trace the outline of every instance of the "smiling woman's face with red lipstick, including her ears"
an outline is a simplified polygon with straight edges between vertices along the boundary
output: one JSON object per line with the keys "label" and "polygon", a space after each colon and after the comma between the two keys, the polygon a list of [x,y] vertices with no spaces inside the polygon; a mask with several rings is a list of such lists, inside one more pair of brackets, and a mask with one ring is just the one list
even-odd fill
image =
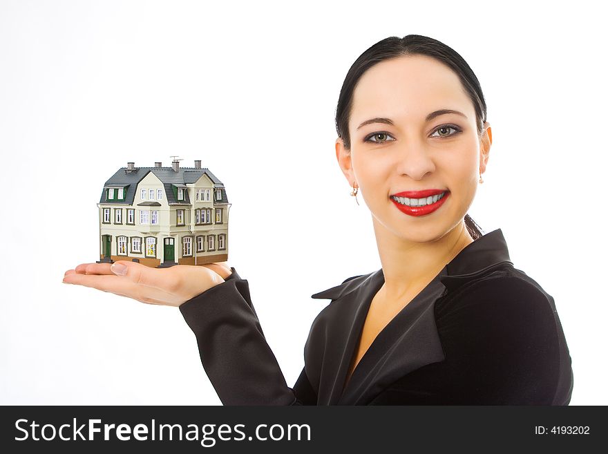
{"label": "smiling woman's face with red lipstick, including her ears", "polygon": [[479,140],[473,103],[448,66],[424,55],[372,66],[354,90],[349,131],[350,152],[338,139],[336,156],[374,222],[417,242],[462,223],[491,132]]}

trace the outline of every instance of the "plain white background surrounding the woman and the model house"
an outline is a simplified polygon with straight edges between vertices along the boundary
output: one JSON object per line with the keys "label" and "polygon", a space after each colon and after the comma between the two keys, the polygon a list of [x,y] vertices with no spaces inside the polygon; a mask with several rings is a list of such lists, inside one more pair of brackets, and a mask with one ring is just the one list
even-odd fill
{"label": "plain white background surrounding the woman and the model house", "polygon": [[493,146],[469,212],[555,298],[571,404],[608,404],[607,34],[591,4],[0,1],[0,404],[220,404],[177,309],[61,283],[98,258],[104,182],[170,155],[225,183],[229,264],[294,384],[327,303],[310,295],[380,267],[334,156],[339,90],[363,50],[410,33],[479,77]]}

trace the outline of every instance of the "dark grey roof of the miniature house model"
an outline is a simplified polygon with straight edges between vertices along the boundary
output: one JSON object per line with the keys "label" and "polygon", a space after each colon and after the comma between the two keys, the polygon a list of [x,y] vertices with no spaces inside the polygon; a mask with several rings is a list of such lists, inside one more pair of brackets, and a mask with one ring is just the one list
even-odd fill
{"label": "dark grey roof of the miniature house model", "polygon": [[[164,193],[167,197],[169,205],[191,205],[188,191],[185,191],[186,200],[178,202],[173,196],[172,186],[185,188],[186,185],[190,185],[197,182],[198,179],[207,175],[213,182],[215,189],[222,190],[221,203],[228,203],[228,197],[226,195],[226,189],[224,183],[222,183],[218,177],[213,175],[209,169],[202,167],[202,169],[196,169],[193,167],[180,167],[176,172],[173,167],[135,167],[135,169],[129,171],[126,167],[121,167],[111,178],[105,182],[104,189],[102,190],[102,196],[99,198],[99,203],[109,203],[116,205],[133,205],[135,200],[135,191],[137,185],[141,180],[144,179],[148,173],[154,173],[155,176],[163,183]],[[125,198],[122,201],[118,200],[107,200],[105,189],[108,187],[123,187],[126,188]]]}

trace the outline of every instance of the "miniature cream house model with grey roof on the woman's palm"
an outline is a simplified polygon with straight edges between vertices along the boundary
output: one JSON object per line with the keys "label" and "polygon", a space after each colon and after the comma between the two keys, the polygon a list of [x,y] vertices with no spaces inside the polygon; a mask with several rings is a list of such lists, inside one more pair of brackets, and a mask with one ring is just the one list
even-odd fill
{"label": "miniature cream house model with grey roof on the woman's palm", "polygon": [[99,262],[150,267],[205,265],[228,258],[224,185],[200,167],[135,167],[129,162],[104,185],[99,200]]}

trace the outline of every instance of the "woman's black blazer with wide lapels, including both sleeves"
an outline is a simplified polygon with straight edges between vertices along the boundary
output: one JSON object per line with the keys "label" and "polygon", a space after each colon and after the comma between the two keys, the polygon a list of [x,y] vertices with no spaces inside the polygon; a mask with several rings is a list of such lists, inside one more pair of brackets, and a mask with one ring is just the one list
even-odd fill
{"label": "woman's black blazer with wide lapels, including both sleeves", "polygon": [[225,405],[567,405],[569,349],[553,298],[513,267],[502,231],[467,245],[345,378],[382,269],[312,295],[304,368],[289,388],[236,269],[180,306]]}

